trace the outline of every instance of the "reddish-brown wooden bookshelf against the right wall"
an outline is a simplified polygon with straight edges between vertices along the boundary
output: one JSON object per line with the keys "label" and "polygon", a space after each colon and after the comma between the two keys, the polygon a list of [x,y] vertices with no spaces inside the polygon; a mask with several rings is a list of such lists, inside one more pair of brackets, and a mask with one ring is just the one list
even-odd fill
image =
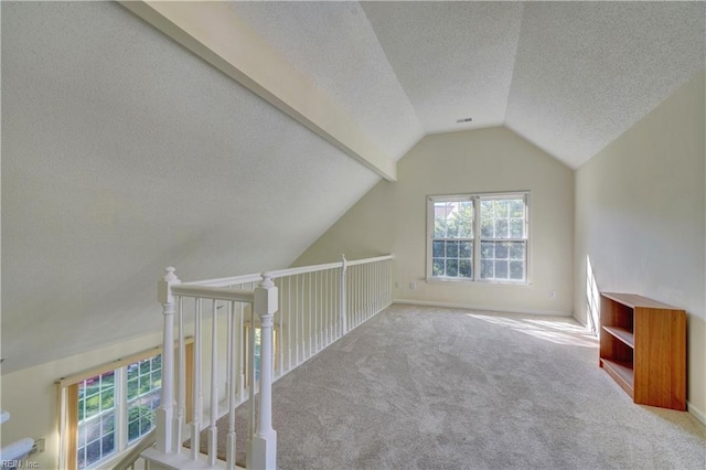
{"label": "reddish-brown wooden bookshelf against the right wall", "polygon": [[633,293],[600,296],[599,365],[634,403],[686,409],[686,313]]}

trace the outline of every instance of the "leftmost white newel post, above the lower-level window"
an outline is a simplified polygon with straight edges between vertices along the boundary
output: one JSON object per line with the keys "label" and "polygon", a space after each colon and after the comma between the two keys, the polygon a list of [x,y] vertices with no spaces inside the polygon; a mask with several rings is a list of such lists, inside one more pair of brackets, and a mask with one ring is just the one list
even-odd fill
{"label": "leftmost white newel post, above the lower-level window", "polygon": [[179,284],[174,268],[168,267],[157,286],[157,298],[162,305],[164,316],[164,337],[162,341],[162,396],[157,409],[157,449],[172,451],[172,430],[174,415],[174,296],[171,287]]}

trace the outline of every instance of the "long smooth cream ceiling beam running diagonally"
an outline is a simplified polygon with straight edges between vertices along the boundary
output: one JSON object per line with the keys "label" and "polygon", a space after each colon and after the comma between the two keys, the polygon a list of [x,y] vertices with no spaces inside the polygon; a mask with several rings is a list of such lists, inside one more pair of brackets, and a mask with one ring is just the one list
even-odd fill
{"label": "long smooth cream ceiling beam running diagonally", "polygon": [[363,165],[396,181],[395,160],[224,2],[120,3]]}

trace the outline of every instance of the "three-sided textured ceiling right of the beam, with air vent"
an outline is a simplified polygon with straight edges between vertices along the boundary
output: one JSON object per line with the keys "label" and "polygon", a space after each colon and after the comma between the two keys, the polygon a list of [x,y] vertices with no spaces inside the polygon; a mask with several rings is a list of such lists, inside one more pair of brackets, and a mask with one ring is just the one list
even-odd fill
{"label": "three-sided textured ceiling right of the beam, with air vent", "polygon": [[578,168],[706,67],[704,2],[232,8],[393,159],[420,133],[505,125]]}

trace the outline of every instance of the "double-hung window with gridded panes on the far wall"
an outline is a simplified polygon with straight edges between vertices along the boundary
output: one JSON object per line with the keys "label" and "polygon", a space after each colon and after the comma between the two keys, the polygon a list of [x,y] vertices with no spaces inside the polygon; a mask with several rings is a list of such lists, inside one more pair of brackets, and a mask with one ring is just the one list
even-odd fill
{"label": "double-hung window with gridded panes on the far wall", "polygon": [[526,192],[431,196],[427,278],[527,282]]}

